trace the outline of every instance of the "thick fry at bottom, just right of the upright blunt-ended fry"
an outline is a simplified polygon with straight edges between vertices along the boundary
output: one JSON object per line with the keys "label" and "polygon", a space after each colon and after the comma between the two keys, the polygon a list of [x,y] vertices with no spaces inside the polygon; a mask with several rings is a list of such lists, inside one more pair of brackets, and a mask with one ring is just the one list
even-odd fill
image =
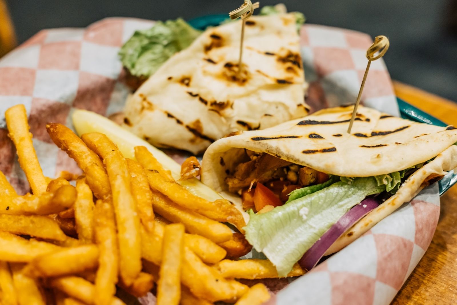
{"label": "thick fry at bottom, just right of the upright blunt-ended fry", "polygon": [[185,247],[184,251],[181,282],[195,296],[210,301],[234,301],[248,290],[248,286],[244,284],[224,279],[216,269],[203,263],[188,247]]}

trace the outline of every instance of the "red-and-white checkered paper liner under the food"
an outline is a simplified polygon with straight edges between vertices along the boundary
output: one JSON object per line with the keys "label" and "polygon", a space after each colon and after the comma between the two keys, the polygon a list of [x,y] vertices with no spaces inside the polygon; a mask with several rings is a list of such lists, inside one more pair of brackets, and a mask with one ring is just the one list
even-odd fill
{"label": "red-and-white checkered paper liner under the food", "polygon": [[[79,173],[76,163],[48,136],[47,122],[70,128],[76,108],[110,116],[122,110],[128,95],[117,52],[135,30],[153,21],[108,18],[86,29],[43,30],[0,60],[0,170],[19,193],[29,191],[15,148],[7,137],[5,110],[24,104],[43,172]],[[327,26],[304,25],[301,53],[312,111],[353,103],[372,43],[363,33]],[[362,102],[399,115],[391,79],[382,59],[372,63]],[[174,155],[182,161],[182,156]],[[293,281],[262,280],[275,293],[268,304],[388,304],[408,278],[438,222],[435,184],[379,222],[365,235],[304,276]],[[290,283],[289,283],[290,282]],[[152,294],[140,299],[154,304]]]}

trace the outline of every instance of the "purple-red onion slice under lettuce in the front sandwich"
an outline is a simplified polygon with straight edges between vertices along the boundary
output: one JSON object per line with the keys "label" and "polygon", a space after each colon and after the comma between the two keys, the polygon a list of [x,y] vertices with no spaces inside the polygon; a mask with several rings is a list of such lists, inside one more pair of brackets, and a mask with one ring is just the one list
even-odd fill
{"label": "purple-red onion slice under lettuce in the front sandwich", "polygon": [[347,211],[333,226],[322,235],[317,242],[303,254],[298,263],[303,269],[311,270],[329,247],[344,234],[344,232],[359,221],[368,212],[375,209],[381,202],[376,198],[366,198]]}

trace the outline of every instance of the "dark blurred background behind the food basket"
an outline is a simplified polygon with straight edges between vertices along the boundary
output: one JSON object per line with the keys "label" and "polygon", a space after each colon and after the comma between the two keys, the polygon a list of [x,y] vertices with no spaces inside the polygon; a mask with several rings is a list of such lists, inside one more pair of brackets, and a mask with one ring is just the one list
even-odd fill
{"label": "dark blurred background behind the food basket", "polygon": [[[457,0],[261,0],[283,2],[308,23],[386,35],[384,57],[393,79],[457,101]],[[242,0],[0,0],[0,30],[8,7],[21,43],[43,28],[84,27],[109,16],[153,20],[228,13]],[[5,31],[3,31],[5,32]],[[1,34],[1,33],[0,33]],[[8,35],[8,33],[3,34]],[[1,53],[1,49],[0,49]]]}

